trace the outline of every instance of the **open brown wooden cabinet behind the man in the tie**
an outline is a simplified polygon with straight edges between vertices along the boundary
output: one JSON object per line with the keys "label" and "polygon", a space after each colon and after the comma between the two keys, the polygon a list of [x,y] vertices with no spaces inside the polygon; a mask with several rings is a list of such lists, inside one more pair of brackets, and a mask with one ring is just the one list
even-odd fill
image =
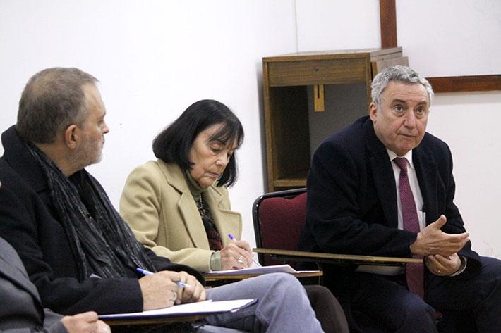
{"label": "open brown wooden cabinet behind the man in the tie", "polygon": [[400,47],[262,58],[268,190],[306,187],[318,144],[368,113],[373,76],[397,64]]}

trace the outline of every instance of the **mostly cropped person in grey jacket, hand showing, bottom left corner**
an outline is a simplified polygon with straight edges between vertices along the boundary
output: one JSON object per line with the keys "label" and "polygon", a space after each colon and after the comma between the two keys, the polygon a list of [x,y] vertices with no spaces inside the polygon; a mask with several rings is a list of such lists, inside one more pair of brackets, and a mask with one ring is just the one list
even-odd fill
{"label": "mostly cropped person in grey jacket, hand showing, bottom left corner", "polygon": [[[11,200],[1,189],[0,202]],[[2,205],[3,206],[3,205]],[[16,214],[11,211],[11,214]],[[1,220],[0,220],[1,223]],[[0,238],[0,332],[107,333],[109,326],[97,320],[97,313],[57,315],[42,307],[37,288],[30,282],[18,253]]]}

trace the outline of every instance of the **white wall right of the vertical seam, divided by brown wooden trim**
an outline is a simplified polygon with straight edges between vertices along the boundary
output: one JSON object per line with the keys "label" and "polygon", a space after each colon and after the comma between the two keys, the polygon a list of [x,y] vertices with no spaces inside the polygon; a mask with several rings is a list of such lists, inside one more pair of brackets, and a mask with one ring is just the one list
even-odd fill
{"label": "white wall right of the vertical seam, divided by brown wooden trim", "polygon": [[[298,49],[380,47],[379,1],[296,0]],[[501,1],[397,0],[397,37],[423,75],[501,73]],[[473,249],[501,258],[501,92],[438,94],[428,132],[454,156],[456,203]]]}

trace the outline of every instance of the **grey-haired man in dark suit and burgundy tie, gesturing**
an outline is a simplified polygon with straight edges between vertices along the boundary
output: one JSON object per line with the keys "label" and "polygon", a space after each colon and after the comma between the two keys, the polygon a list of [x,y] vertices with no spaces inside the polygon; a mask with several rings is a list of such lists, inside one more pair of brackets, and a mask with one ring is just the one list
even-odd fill
{"label": "grey-haired man in dark suit and burgundy tie, gesturing", "polygon": [[352,332],[438,332],[435,310],[440,332],[500,330],[501,261],[471,250],[449,147],[425,132],[432,98],[416,71],[388,68],[369,116],[315,151],[300,249],[424,259],[406,271],[326,268]]}

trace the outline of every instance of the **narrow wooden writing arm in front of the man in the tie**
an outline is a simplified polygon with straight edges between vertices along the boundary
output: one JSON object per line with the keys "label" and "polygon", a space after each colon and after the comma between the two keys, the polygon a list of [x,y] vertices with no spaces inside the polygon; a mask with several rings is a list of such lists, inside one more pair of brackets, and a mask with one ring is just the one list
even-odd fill
{"label": "narrow wooden writing arm in front of the man in the tie", "polygon": [[333,254],[320,252],[303,252],[279,249],[253,249],[255,253],[269,254],[279,260],[308,261],[330,263],[332,265],[385,265],[404,266],[406,263],[422,263],[422,259],[356,256],[353,254]]}

